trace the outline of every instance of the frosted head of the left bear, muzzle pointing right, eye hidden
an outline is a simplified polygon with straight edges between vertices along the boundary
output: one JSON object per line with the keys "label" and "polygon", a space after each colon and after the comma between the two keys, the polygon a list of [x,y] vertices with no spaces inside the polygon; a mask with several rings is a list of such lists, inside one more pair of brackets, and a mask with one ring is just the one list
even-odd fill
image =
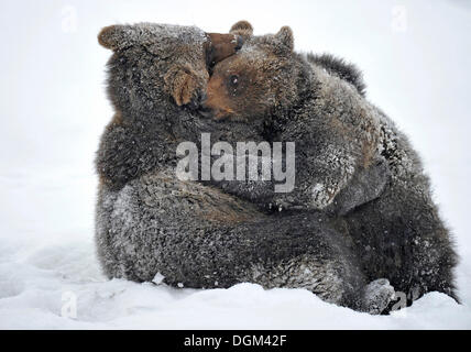
{"label": "frosted head of the left bear, muzzle pointing right, eye hidden", "polygon": [[138,23],[101,30],[98,42],[113,51],[108,94],[117,110],[146,112],[174,99],[188,105],[206,90],[208,68],[238,51],[237,34],[196,26]]}

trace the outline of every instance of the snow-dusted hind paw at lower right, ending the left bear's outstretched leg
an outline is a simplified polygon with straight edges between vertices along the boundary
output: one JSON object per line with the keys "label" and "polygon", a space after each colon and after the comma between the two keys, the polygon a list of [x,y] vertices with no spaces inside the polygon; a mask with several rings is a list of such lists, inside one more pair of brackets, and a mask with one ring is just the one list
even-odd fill
{"label": "snow-dusted hind paw at lower right, ending the left bear's outstretched leg", "polygon": [[362,310],[370,315],[380,315],[394,298],[394,287],[386,278],[379,278],[366,285],[363,292]]}

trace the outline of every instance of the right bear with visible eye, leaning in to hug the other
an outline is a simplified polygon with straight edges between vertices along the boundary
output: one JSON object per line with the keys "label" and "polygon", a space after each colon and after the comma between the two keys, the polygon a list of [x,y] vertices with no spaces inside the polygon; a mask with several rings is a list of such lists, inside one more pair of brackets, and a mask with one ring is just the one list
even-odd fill
{"label": "right bear with visible eye, leaning in to hug the other", "polygon": [[456,298],[457,254],[419,156],[364,98],[353,66],[294,52],[288,28],[245,31],[242,50],[216,65],[204,106],[221,123],[263,124],[270,141],[296,142],[294,191],[275,194],[266,182],[215,184],[262,206],[328,215],[366,280],[387,278],[409,300],[431,290]]}

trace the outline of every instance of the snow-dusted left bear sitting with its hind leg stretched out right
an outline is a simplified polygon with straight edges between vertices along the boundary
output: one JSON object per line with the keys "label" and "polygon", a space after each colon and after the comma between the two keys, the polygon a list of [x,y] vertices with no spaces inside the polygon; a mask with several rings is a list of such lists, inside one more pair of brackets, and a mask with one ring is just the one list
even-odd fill
{"label": "snow-dusted left bear sitting with its hind leg stretched out right", "polygon": [[260,125],[221,124],[188,109],[208,78],[202,31],[118,25],[105,29],[99,41],[114,52],[108,92],[116,116],[96,160],[96,241],[109,277],[142,282],[158,273],[185,287],[251,282],[306,287],[364,311],[387,305],[371,301],[353,243],[321,212],[271,213],[215,186],[175,177],[182,141],[196,142],[201,132],[227,141],[261,136]]}

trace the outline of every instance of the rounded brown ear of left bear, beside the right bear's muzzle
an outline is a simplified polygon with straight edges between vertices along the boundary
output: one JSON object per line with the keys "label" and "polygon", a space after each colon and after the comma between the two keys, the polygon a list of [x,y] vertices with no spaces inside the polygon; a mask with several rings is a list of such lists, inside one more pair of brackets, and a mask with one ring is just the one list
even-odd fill
{"label": "rounded brown ear of left bear, beside the right bear's muzzle", "polygon": [[165,86],[177,106],[190,109],[199,107],[208,78],[202,76],[187,66],[177,66],[167,72]]}

